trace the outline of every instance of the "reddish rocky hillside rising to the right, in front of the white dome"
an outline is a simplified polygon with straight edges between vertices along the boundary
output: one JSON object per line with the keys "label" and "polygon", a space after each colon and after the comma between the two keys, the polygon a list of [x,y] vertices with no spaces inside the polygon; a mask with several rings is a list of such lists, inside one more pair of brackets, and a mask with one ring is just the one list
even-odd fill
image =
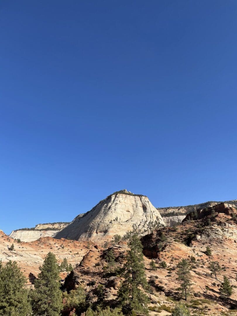
{"label": "reddish rocky hillside rising to the right, in front of the white dome", "polygon": [[[188,214],[183,223],[175,228],[155,229],[141,238],[146,266],[147,281],[151,285],[149,297],[150,309],[161,308],[161,313],[151,315],[170,315],[169,308],[179,300],[177,282],[177,264],[185,258],[191,265],[193,292],[185,302],[192,315],[234,315],[237,309],[237,210],[228,204],[218,204],[197,213]],[[206,247],[211,248],[211,257],[205,254]],[[126,241],[117,245],[110,244],[115,255],[116,267],[122,267],[128,250]],[[66,278],[65,286],[73,289],[83,285],[96,300],[96,287],[103,284],[106,300],[116,299],[120,277],[114,273],[107,276],[103,267],[106,265],[107,249],[91,249]],[[156,262],[157,270],[150,269],[151,259]],[[166,267],[161,267],[161,262]],[[222,271],[217,280],[208,268],[210,261],[218,261]],[[223,276],[227,276],[234,286],[231,298],[220,297],[219,285]],[[163,310],[162,310],[163,308]],[[233,314],[231,312],[233,310]]]}

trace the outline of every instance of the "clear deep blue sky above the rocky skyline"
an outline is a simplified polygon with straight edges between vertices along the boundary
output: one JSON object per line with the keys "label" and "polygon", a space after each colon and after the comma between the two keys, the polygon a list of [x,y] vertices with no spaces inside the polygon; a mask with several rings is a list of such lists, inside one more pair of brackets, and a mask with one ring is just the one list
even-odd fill
{"label": "clear deep blue sky above the rocky skyline", "polygon": [[0,2],[0,229],[113,191],[237,198],[236,0]]}

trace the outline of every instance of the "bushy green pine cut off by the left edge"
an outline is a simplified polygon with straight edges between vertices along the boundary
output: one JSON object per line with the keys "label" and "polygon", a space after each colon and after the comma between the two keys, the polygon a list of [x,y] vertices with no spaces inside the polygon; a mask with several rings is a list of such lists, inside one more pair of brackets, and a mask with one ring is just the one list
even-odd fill
{"label": "bushy green pine cut off by the left edge", "polygon": [[23,288],[26,278],[15,261],[3,267],[0,262],[0,315],[26,316],[31,314],[27,290]]}

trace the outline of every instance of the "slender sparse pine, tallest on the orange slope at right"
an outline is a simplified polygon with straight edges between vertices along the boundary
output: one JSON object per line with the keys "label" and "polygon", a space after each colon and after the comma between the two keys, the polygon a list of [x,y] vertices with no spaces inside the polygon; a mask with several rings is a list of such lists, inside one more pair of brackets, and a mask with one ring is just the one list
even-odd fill
{"label": "slender sparse pine, tallest on the orange slope at right", "polygon": [[182,259],[181,261],[179,261],[179,263],[177,264],[178,269],[178,278],[177,280],[179,280],[181,282],[180,285],[180,290],[182,292],[182,295],[185,296],[185,301],[187,301],[187,296],[191,293],[191,274],[190,274],[190,265],[187,262],[187,260]]}

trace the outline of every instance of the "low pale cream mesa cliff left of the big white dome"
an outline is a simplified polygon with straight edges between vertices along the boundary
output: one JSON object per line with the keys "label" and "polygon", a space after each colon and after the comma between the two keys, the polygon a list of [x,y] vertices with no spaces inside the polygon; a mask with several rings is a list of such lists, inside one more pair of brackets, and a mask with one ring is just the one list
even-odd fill
{"label": "low pale cream mesa cliff left of the big white dome", "polygon": [[34,241],[41,237],[53,237],[68,224],[70,223],[58,222],[37,224],[33,228],[21,228],[13,230],[9,237],[13,239],[20,239],[21,241],[25,242]]}

